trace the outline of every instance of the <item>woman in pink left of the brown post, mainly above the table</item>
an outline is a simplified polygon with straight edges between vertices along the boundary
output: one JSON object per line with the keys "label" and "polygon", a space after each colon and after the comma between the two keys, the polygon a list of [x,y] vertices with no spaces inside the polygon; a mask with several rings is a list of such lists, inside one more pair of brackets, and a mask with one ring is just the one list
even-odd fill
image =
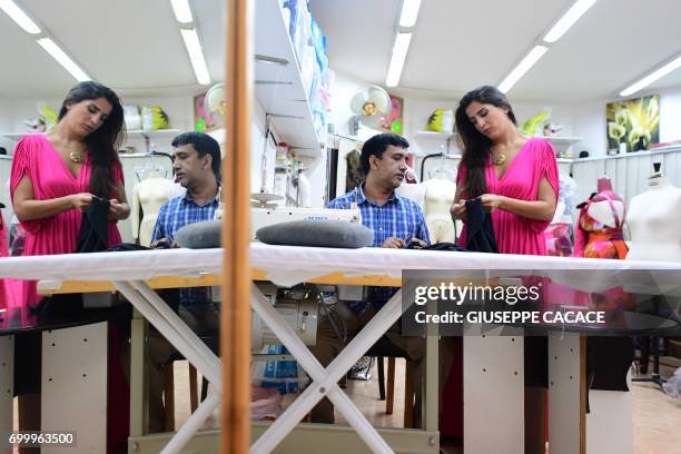
{"label": "woman in pink left of the brown post, mainly above the table", "polygon": [[[92,196],[111,199],[109,245],[121,243],[116,223],[130,214],[117,152],[122,130],[116,93],[88,81],[71,89],[55,128],[19,140],[10,193],[27,230],[23,255],[75,253]],[[34,282],[26,283],[23,297],[26,304],[38,302]]]}

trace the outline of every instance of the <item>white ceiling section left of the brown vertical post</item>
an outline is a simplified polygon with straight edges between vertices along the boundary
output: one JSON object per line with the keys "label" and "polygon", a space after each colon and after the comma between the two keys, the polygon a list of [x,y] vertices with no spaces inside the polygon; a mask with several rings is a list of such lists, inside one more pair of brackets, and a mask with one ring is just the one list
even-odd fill
{"label": "white ceiling section left of the brown vertical post", "polygon": [[[16,0],[85,71],[122,96],[188,95],[196,82],[169,0]],[[224,77],[221,0],[194,0],[211,80]],[[61,98],[76,80],[0,11],[0,97]]]}

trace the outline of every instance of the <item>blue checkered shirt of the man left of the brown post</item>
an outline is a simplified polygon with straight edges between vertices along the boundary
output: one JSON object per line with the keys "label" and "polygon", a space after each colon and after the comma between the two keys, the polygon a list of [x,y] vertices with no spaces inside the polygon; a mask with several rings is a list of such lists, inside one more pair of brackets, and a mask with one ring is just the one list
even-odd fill
{"label": "blue checkered shirt of the man left of the brown post", "polygon": [[[174,243],[177,230],[189,224],[211,220],[218,206],[217,197],[205,205],[198,206],[189,194],[166,201],[156,219],[151,241],[167,238],[170,243]],[[208,290],[208,287],[180,288],[180,304],[206,304],[209,299]]]}

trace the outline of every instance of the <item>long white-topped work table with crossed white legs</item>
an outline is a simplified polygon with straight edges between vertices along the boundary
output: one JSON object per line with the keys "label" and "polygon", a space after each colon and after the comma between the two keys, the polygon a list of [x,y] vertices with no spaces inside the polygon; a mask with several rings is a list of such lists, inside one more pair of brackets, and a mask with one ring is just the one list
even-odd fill
{"label": "long white-topped work table with crossed white legs", "polygon": [[[266,246],[253,244],[251,267],[255,279],[268,279],[278,285],[294,285],[302,282],[319,282],[328,284],[365,284],[365,285],[394,285],[399,286],[403,269],[452,269],[460,270],[461,276],[466,276],[470,269],[536,269],[550,275],[552,272],[571,268],[582,269],[588,276],[594,269],[680,269],[679,264],[645,263],[645,261],[619,261],[595,259],[566,259],[559,257],[534,257],[512,255],[487,255],[476,253],[441,253],[420,250],[393,250],[393,249],[330,249]],[[203,250],[152,250],[135,253],[99,253],[65,256],[21,257],[0,260],[0,277],[20,277],[30,279],[49,279],[62,282],[68,287],[69,282],[88,282],[92,289],[101,289],[101,282],[109,282],[120,290],[175,347],[193,363],[204,376],[214,385],[215,392],[199,406],[199,409],[187,421],[187,423],[172,437],[164,452],[179,452],[182,445],[196,433],[205,422],[206,417],[217,407],[220,402],[221,377],[220,359],[216,357],[208,347],[182,323],[182,320],[156,295],[145,280],[159,276],[194,276],[219,275],[221,272],[221,249]],[[491,276],[494,277],[494,276]],[[100,282],[99,284],[97,282]],[[591,283],[593,284],[593,283]],[[314,356],[307,351],[295,333],[284,323],[283,318],[266,304],[264,297],[254,287],[251,305],[277,333],[282,342],[289,348],[299,364],[313,378],[313,384],[292,404],[290,407],[273,423],[265,436],[259,437],[251,446],[251,452],[261,453],[272,451],[277,444],[297,425],[302,416],[312,408],[325,395],[337,406],[338,411],[347,418],[352,427],[359,434],[362,440],[375,452],[392,452],[392,448],[371,426],[366,418],[353,405],[336,386],[337,379],[347,371],[359,356],[377,340],[402,314],[399,294],[388,302],[371,323],[348,345],[348,347],[324,369]],[[487,337],[491,338],[491,337]],[[573,339],[574,342],[574,339]],[[433,347],[435,342],[428,337],[428,345]],[[556,344],[555,348],[573,348],[578,344]],[[431,348],[432,349],[432,348]],[[499,356],[499,348],[487,348],[488,355]],[[516,342],[512,355],[522,352],[522,342]],[[579,352],[579,351],[578,351]],[[506,356],[511,354],[507,352]],[[426,361],[433,355],[427,354]],[[576,356],[579,358],[579,355]],[[521,356],[522,358],[522,356]],[[494,361],[493,356],[487,359]],[[573,358],[574,359],[574,358]],[[522,363],[522,362],[521,362]],[[579,363],[579,362],[578,362]],[[436,365],[436,363],[435,363]],[[578,364],[579,365],[579,364]],[[428,367],[433,366],[430,361]],[[574,367],[574,363],[570,367]],[[554,371],[555,372],[555,371]],[[426,373],[427,374],[427,373]],[[552,372],[550,371],[550,374]],[[487,427],[507,426],[513,422],[522,427],[517,421],[519,402],[522,396],[522,374],[517,375],[511,387],[490,387],[490,383],[481,394],[481,389],[466,389],[466,396],[473,398],[484,395],[490,402],[499,402],[495,412],[484,415],[486,427],[472,425],[466,430],[468,440],[477,440],[482,443],[492,437],[486,436]],[[137,379],[132,377],[132,379]],[[426,376],[428,387],[432,387],[433,377]],[[506,381],[504,381],[506,382]],[[574,382],[571,385],[574,387]],[[435,381],[435,388],[437,382]],[[467,383],[467,382],[466,382]],[[482,383],[482,382],[481,382]],[[574,392],[573,388],[571,388]],[[507,393],[511,392],[511,393]],[[436,394],[436,393],[435,393]],[[511,406],[504,397],[512,395],[514,401]],[[478,398],[478,397],[475,397]],[[428,397],[426,396],[426,401]],[[431,397],[431,404],[437,405]],[[522,408],[522,406],[521,406]],[[578,408],[551,406],[550,421],[552,434],[564,434],[566,446],[552,445],[552,453],[572,452],[575,440],[579,442],[579,405]],[[468,415],[466,415],[468,416]],[[473,415],[475,416],[475,415]],[[480,415],[478,415],[480,416]],[[554,422],[563,422],[563,427],[553,427]],[[425,426],[436,433],[437,422],[428,420],[426,415]],[[468,425],[467,425],[468,426]],[[576,428],[576,433],[574,432]],[[515,434],[515,435],[514,435]],[[517,437],[520,434],[520,438]],[[522,430],[509,431],[513,440],[503,440],[505,452],[522,452]],[[570,440],[568,440],[570,438]],[[485,452],[478,447],[478,452]],[[434,446],[436,451],[436,446]],[[466,452],[470,452],[467,450]]]}

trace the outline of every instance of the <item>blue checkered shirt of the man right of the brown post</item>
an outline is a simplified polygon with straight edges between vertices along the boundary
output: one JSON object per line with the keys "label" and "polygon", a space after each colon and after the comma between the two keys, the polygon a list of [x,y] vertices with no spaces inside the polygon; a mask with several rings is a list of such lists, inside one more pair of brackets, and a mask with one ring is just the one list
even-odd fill
{"label": "blue checkered shirt of the man right of the brown post", "polygon": [[[381,247],[389,237],[401,238],[405,243],[418,238],[431,244],[423,210],[414,200],[393,193],[387,203],[379,207],[366,198],[363,182],[346,195],[333,199],[327,208],[349,209],[355,203],[362,214],[362,225],[374,231],[374,247]],[[393,287],[368,287],[367,299],[378,309],[395,292]],[[365,306],[364,302],[348,303],[355,313],[362,312]]]}

